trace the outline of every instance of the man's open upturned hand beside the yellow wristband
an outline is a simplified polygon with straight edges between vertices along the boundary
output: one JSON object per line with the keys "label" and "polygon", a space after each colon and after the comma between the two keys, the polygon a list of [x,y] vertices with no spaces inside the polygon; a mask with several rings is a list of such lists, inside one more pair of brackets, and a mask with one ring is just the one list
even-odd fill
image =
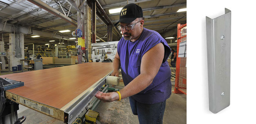
{"label": "man's open upturned hand beside the yellow wristband", "polygon": [[103,93],[103,92],[98,91],[96,93],[95,97],[103,102],[112,102],[112,101],[116,101],[119,99],[119,95],[117,92]]}

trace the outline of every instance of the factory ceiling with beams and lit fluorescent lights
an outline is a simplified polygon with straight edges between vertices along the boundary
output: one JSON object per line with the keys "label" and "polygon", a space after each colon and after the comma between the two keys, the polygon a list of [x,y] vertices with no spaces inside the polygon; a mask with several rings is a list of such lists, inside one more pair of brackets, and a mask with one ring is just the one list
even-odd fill
{"label": "factory ceiling with beams and lit fluorescent lights", "polygon": [[[77,10],[73,6],[70,9],[71,4],[69,1],[70,0],[42,0],[42,2],[46,3],[62,14],[64,14],[63,11],[66,14],[68,14],[68,11],[70,11],[68,17],[71,20],[77,21]],[[112,23],[119,20],[119,13],[109,14],[109,9],[122,8],[127,4],[127,2],[139,5],[142,7],[143,16],[145,17],[144,27],[159,32],[164,38],[176,38],[177,24],[186,23],[186,11],[177,12],[179,9],[186,8],[186,0],[98,0],[98,2]],[[0,27],[5,23],[9,26],[21,26],[24,28],[30,28],[33,31],[38,30],[42,33],[47,32],[60,36],[60,38],[57,38],[56,36],[54,38],[52,36],[31,38],[33,35],[24,35],[25,43],[35,43],[40,45],[45,43],[57,44],[64,41],[66,45],[75,44],[75,40],[63,40],[61,36],[72,38],[71,32],[76,29],[76,26],[67,23],[67,21],[34,5],[29,1],[24,1],[17,4],[17,0],[0,0]],[[61,33],[59,32],[61,30],[70,30],[71,32]],[[1,33],[3,34],[4,41],[6,43],[9,42],[8,32],[4,32],[3,29],[0,28],[0,39],[2,41]],[[97,17],[96,35],[107,41],[106,34],[107,25]],[[49,42],[51,40],[55,41]],[[170,39],[166,40],[168,43],[170,43]],[[113,41],[119,41],[119,38],[114,35],[114,33]]]}

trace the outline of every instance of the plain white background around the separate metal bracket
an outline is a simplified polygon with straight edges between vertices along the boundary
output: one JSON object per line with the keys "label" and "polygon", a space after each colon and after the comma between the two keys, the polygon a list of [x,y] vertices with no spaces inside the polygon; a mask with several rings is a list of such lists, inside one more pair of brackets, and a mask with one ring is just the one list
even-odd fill
{"label": "plain white background around the separate metal bracket", "polygon": [[[231,10],[230,106],[209,111],[205,16]],[[253,0],[187,1],[187,123],[256,123],[256,4]]]}

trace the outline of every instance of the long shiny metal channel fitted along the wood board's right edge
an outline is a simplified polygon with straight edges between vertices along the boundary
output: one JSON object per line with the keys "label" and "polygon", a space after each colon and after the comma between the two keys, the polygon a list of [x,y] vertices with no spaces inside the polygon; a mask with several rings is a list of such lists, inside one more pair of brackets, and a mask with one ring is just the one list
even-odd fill
{"label": "long shiny metal channel fitted along the wood board's right edge", "polygon": [[[109,72],[110,75],[113,71]],[[76,117],[82,112],[86,105],[92,100],[95,94],[101,89],[101,87],[106,83],[106,77],[102,78],[98,83],[95,83],[87,89],[87,92],[74,104],[68,107],[64,114],[67,115],[67,123],[70,124],[75,121]]]}

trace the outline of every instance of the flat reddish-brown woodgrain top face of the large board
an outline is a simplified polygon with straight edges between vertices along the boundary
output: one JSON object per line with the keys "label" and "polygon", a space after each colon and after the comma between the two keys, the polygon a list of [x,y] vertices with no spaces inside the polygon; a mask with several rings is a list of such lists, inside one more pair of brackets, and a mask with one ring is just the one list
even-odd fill
{"label": "flat reddish-brown woodgrain top face of the large board", "polygon": [[113,63],[88,62],[0,77],[24,82],[8,92],[60,109],[112,70]]}

